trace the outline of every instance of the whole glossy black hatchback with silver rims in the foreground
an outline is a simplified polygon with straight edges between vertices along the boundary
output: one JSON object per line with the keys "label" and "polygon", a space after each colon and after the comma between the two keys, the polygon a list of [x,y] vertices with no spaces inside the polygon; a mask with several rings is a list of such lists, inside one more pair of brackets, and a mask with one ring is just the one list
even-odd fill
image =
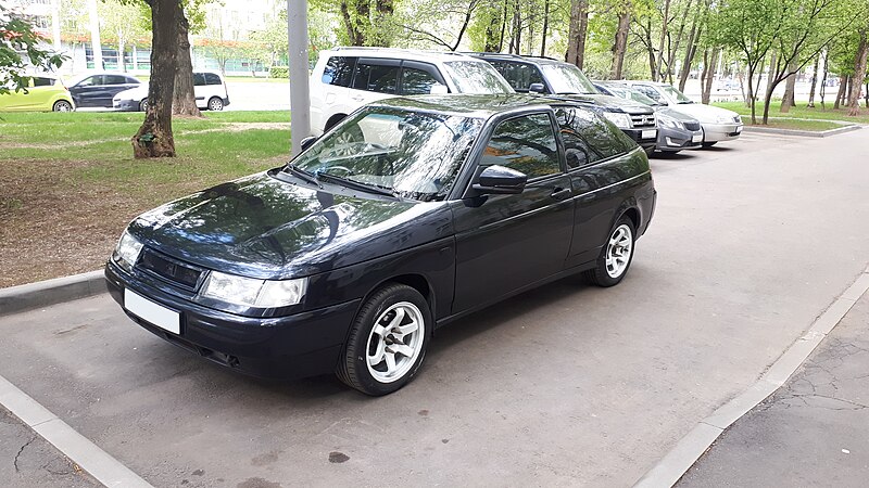
{"label": "whole glossy black hatchback with silver rims in the foreground", "polygon": [[655,208],[645,153],[563,100],[388,99],[304,145],[130,222],[105,267],[127,314],[241,372],[385,395],[440,325],[574,273],[619,283]]}

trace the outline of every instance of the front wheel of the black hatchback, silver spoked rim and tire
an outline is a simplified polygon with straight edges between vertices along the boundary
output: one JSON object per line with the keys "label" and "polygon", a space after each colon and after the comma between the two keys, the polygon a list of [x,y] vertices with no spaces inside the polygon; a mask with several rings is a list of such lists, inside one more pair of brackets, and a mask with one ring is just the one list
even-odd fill
{"label": "front wheel of the black hatchback, silver spoked rim and tire", "polygon": [[432,325],[419,292],[399,283],[379,288],[356,313],[336,374],[375,397],[400,389],[419,371]]}

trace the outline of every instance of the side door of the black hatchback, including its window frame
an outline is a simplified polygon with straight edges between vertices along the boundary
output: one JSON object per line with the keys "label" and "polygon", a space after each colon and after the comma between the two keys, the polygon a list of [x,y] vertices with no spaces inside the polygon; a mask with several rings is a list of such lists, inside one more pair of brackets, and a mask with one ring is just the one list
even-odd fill
{"label": "side door of the black hatchback, including its window frame", "polygon": [[475,174],[501,165],[526,174],[528,183],[519,194],[454,202],[453,313],[495,301],[564,269],[574,202],[550,112],[532,112],[502,120],[491,131]]}

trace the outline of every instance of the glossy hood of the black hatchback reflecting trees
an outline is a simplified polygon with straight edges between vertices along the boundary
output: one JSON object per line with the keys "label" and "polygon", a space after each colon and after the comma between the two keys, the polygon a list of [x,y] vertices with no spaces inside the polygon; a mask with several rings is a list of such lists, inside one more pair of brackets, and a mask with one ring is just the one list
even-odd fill
{"label": "glossy hood of the black hatchback reflecting trees", "polygon": [[129,232],[177,259],[260,279],[311,275],[452,235],[444,203],[329,188],[257,174],[147,211]]}

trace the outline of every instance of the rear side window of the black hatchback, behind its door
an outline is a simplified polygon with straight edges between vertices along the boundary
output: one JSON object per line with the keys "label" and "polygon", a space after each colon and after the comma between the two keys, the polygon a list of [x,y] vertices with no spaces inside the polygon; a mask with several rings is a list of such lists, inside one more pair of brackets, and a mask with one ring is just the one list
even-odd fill
{"label": "rear side window of the black hatchback, behind its door", "polygon": [[575,107],[555,110],[569,168],[580,168],[626,153],[631,141],[615,127],[604,124],[592,112]]}

